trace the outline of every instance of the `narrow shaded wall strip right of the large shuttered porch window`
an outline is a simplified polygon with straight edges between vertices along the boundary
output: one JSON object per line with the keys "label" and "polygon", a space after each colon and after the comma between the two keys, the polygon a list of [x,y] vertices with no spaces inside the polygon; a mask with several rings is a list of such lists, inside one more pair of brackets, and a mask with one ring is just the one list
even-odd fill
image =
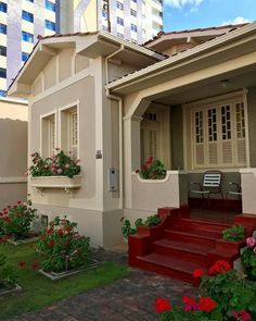
{"label": "narrow shaded wall strip right of the large shuttered porch window", "polygon": [[256,87],[248,88],[248,133],[249,133],[249,159],[251,166],[256,168]]}

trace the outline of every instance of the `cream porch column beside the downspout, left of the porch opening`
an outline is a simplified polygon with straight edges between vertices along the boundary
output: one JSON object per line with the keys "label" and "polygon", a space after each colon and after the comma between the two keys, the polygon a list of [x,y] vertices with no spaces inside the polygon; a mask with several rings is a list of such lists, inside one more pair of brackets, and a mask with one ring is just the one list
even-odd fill
{"label": "cream porch column beside the downspout, left of the porch opening", "polygon": [[124,182],[125,208],[131,208],[131,172],[140,169],[141,116],[124,118]]}

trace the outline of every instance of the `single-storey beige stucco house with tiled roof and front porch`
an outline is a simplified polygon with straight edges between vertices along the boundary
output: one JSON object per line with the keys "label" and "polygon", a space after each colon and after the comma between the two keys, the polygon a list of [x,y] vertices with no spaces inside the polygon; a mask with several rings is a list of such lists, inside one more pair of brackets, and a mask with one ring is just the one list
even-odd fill
{"label": "single-storey beige stucco house with tiled roof and front porch", "polygon": [[[107,247],[120,243],[124,215],[187,205],[190,182],[219,169],[225,190],[242,177],[243,211],[256,214],[255,45],[255,23],[159,34],[143,47],[103,32],[41,39],[9,94],[29,97],[29,152],[73,150],[81,174],[29,180],[34,205]],[[165,180],[135,173],[149,156]]]}

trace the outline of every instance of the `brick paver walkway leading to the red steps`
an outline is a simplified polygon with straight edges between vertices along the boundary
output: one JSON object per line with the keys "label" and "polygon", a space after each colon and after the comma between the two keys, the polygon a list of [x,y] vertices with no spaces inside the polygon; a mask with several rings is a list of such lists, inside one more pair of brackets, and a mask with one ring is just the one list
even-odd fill
{"label": "brick paver walkway leading to the red steps", "polygon": [[[125,257],[103,251],[105,260],[123,261]],[[183,295],[194,295],[190,284],[151,272],[132,270],[131,274],[110,285],[64,299],[42,310],[24,314],[15,321],[145,321],[157,320],[154,300],[167,297],[181,303]]]}

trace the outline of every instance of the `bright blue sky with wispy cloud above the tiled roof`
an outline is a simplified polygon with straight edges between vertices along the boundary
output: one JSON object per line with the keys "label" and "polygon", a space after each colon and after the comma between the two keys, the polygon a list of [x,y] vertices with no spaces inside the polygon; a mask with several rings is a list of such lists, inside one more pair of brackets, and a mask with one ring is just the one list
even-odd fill
{"label": "bright blue sky with wispy cloud above the tiled roof", "polygon": [[164,32],[256,21],[256,0],[164,0]]}

